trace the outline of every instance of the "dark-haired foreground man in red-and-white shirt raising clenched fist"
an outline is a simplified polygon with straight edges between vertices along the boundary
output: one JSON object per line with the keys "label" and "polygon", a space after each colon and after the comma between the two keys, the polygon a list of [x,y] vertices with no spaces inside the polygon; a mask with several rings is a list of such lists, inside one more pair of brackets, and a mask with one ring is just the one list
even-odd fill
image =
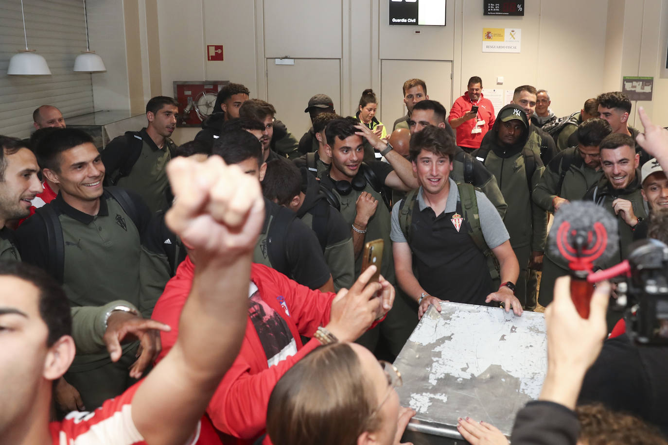
{"label": "dark-haired foreground man in red-and-white shirt raising clenched fist", "polygon": [[[0,392],[12,400],[0,407],[3,444],[184,445],[196,436],[219,443],[217,436],[205,441],[206,422],[198,422],[244,336],[263,201],[257,181],[220,159],[179,159],[169,174],[179,199],[168,224],[198,252],[188,301],[172,324],[180,332],[172,352],[141,384],[100,410],[49,423],[52,382],[75,353],[69,304],[43,272],[0,264]],[[220,189],[231,192],[215,192]],[[205,343],[212,350],[202,354]]]}

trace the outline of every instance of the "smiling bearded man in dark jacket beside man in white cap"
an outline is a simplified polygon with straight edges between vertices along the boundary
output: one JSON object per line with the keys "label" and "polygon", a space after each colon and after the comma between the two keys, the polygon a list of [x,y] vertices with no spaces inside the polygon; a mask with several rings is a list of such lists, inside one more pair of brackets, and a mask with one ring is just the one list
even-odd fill
{"label": "smiling bearded man in dark jacket beside man in white cap", "polygon": [[613,266],[627,258],[635,226],[647,217],[638,171],[640,155],[633,138],[612,133],[601,141],[601,166],[605,177],[585,195],[585,200],[603,205],[617,216],[619,250],[605,265]]}

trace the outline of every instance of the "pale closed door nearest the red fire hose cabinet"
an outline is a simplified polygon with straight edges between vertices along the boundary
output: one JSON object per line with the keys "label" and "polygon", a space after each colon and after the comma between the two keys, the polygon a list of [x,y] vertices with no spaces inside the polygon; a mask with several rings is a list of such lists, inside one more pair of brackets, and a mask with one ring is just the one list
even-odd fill
{"label": "pale closed door nearest the red fire hose cabinet", "polygon": [[304,110],[313,95],[328,95],[341,112],[341,59],[293,60],[294,65],[277,65],[275,59],[267,59],[267,98],[276,108],[276,118],[299,140],[311,127]]}

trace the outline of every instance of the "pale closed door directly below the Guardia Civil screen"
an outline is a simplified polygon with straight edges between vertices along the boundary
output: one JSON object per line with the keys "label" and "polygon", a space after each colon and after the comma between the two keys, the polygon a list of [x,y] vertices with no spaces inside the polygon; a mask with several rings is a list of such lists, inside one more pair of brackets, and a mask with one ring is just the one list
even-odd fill
{"label": "pale closed door directly below the Guardia Civil screen", "polygon": [[[448,60],[381,60],[381,121],[387,132],[396,119],[406,114],[401,87],[408,79],[418,78],[427,84],[427,95],[439,101],[446,111],[454,102],[452,97],[452,61]],[[457,94],[456,96],[458,96]]]}

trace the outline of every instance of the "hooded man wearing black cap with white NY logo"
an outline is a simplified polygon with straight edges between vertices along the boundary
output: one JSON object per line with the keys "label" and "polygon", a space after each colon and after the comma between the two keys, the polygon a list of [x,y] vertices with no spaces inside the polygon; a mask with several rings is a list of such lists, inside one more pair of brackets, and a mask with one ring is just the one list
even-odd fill
{"label": "hooded man wearing black cap with white NY logo", "polygon": [[486,141],[474,155],[496,177],[508,210],[504,224],[520,264],[516,296],[524,306],[528,266],[539,267],[545,244],[547,213],[533,203],[531,193],[545,167],[540,155],[525,147],[530,123],[522,107],[506,105],[499,111]]}

